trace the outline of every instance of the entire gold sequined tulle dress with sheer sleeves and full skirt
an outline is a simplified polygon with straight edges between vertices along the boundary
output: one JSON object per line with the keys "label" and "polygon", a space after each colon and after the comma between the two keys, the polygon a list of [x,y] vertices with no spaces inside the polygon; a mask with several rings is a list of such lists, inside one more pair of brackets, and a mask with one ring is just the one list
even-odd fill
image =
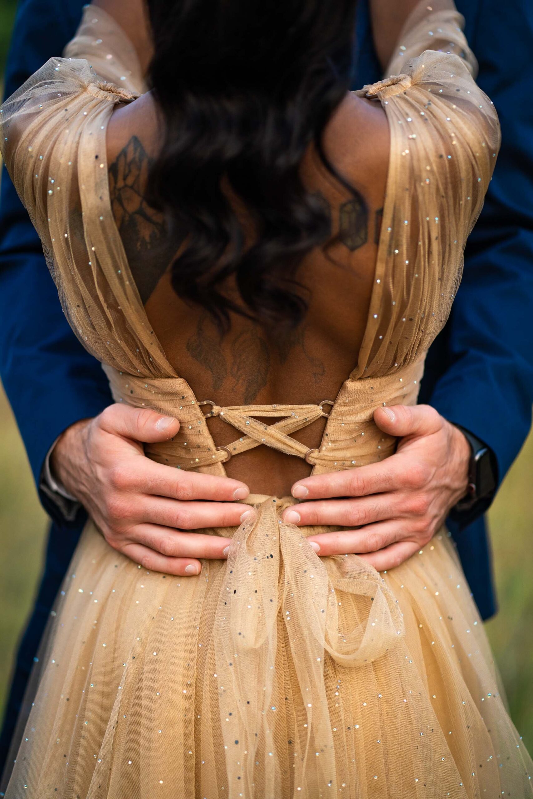
{"label": "entire gold sequined tulle dress with sheer sleeves and full skirt", "polygon": [[[266,445],[320,473],[394,451],[372,411],[416,403],[499,147],[462,22],[418,6],[393,77],[361,89],[387,113],[390,165],[364,341],[332,407],[202,405],[170,366],[110,209],[105,129],[142,78],[104,11],[88,6],[66,58],[6,102],[6,165],[70,324],[117,401],[181,421],[149,457],[224,475],[229,454]],[[207,412],[237,429],[228,449]],[[291,437],[326,414],[316,449]],[[531,760],[447,531],[378,574],[356,555],[317,557],[306,536],[320,528],[280,520],[293,499],[249,501],[253,522],[207,531],[233,535],[228,561],[185,578],[149,573],[87,523],[6,797],[530,797]]]}

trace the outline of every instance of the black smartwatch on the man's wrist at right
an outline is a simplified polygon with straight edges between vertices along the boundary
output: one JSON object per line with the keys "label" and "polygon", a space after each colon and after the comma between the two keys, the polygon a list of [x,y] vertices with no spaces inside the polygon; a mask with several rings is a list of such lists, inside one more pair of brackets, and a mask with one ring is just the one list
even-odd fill
{"label": "black smartwatch on the man's wrist at right", "polygon": [[468,463],[468,491],[463,499],[451,509],[451,518],[469,523],[490,506],[498,485],[498,464],[494,452],[469,430],[459,424],[455,427],[463,433],[470,444],[471,455]]}

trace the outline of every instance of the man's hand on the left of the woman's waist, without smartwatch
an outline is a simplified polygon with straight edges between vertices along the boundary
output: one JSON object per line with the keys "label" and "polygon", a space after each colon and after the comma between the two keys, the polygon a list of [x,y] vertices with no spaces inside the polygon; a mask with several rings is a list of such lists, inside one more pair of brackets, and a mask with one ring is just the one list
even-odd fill
{"label": "man's hand on the left of the woman's waist, without smartwatch", "polygon": [[249,488],[239,480],[181,471],[146,457],[140,442],[168,441],[179,427],[173,417],[116,403],[68,427],[52,451],[50,467],[86,507],[110,547],[149,570],[199,574],[197,559],[225,559],[232,539],[194,531],[239,525],[251,511],[238,503]]}

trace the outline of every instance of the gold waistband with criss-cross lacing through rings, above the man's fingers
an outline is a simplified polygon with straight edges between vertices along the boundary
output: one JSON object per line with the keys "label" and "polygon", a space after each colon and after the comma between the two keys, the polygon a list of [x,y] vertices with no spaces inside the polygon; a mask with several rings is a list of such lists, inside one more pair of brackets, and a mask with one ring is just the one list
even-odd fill
{"label": "gold waistband with criss-cross lacing through rings, above the man's fingers", "polygon": [[[125,375],[104,367],[113,397],[136,407],[156,407],[172,412],[181,420],[181,430],[169,442],[146,444],[145,452],[159,463],[183,469],[216,471],[223,474],[229,457],[251,447],[265,445],[304,458],[313,472],[350,468],[372,463],[392,454],[396,439],[381,433],[372,421],[378,404],[416,403],[424,358],[396,374],[345,381],[335,402],[319,405],[248,405],[219,407],[212,400],[198,401],[181,378],[150,379]],[[176,402],[179,402],[176,408]],[[206,410],[207,409],[207,410]],[[217,447],[209,433],[208,419],[217,415],[242,435],[229,446]],[[272,425],[254,419],[281,417]],[[290,434],[325,416],[327,423],[319,447],[309,449]]]}

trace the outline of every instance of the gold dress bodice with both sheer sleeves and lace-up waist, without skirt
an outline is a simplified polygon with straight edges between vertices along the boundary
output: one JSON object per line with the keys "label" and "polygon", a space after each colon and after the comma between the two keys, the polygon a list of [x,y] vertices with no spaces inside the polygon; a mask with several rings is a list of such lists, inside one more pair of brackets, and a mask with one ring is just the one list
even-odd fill
{"label": "gold dress bodice with both sheer sleeves and lace-up waist, without skirt", "polygon": [[[70,58],[51,59],[2,109],[2,153],[42,238],[67,319],[101,360],[115,400],[180,419],[176,438],[149,445],[150,457],[224,474],[229,455],[260,444],[306,458],[315,471],[392,452],[394,442],[377,431],[372,411],[377,403],[416,403],[424,355],[450,312],[499,145],[495,110],[471,77],[475,58],[462,18],[425,14],[419,24],[406,22],[389,66],[400,74],[360,91],[381,102],[388,117],[383,220],[359,359],[336,399],[326,398],[335,403],[312,451],[290,433],[327,413],[324,406],[213,405],[209,412],[242,434],[217,448],[205,419],[211,406],[177,376],[150,327],[109,200],[105,129],[113,105],[143,89],[133,48],[116,23],[89,6],[66,51]],[[424,43],[446,52],[423,52]],[[259,413],[281,418],[268,426],[253,418]]]}

